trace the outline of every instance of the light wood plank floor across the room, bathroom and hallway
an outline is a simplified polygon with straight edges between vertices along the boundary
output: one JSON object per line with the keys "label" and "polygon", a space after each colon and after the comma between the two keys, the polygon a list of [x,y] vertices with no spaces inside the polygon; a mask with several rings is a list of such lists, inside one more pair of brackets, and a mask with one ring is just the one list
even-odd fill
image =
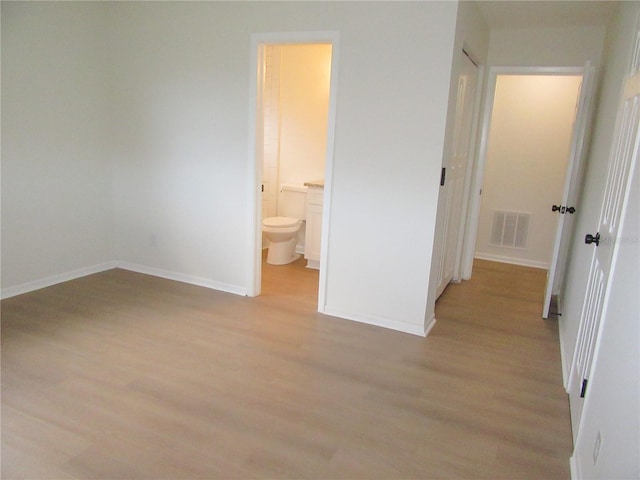
{"label": "light wood plank floor across the room, bathroom and hallway", "polygon": [[569,478],[544,271],[477,262],[426,339],[317,314],[302,264],[263,278],[251,299],[112,270],[3,301],[2,478]]}

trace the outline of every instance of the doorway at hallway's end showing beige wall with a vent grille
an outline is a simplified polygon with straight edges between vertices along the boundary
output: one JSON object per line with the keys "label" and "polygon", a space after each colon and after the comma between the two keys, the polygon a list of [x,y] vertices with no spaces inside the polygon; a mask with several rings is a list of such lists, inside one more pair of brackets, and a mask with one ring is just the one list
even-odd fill
{"label": "doorway at hallway's end showing beige wall with a vent grille", "polygon": [[463,278],[476,257],[550,269],[560,215],[552,206],[580,184],[592,78],[588,63],[491,69]]}

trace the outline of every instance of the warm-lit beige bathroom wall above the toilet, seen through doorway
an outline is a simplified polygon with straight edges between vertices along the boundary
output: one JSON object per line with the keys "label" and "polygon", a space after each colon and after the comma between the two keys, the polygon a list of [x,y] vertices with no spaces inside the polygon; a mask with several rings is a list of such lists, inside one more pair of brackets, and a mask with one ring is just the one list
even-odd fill
{"label": "warm-lit beige bathroom wall above the toilet, seen through doorway", "polygon": [[265,49],[263,218],[283,214],[281,185],[324,178],[330,74],[330,44]]}

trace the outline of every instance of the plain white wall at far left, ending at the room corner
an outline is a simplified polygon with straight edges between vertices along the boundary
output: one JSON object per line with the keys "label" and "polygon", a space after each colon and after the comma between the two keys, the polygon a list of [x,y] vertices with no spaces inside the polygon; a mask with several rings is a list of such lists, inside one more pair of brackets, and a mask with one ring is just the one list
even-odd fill
{"label": "plain white wall at far left, ending at the room corner", "polygon": [[2,2],[2,295],[112,266],[106,5]]}

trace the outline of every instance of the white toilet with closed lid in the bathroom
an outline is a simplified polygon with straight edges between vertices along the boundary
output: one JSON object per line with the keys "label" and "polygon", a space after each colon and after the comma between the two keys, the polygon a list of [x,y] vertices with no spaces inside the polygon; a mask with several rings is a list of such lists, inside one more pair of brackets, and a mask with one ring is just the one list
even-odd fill
{"label": "white toilet with closed lid in the bathroom", "polygon": [[296,245],[298,232],[306,219],[306,187],[283,185],[281,192],[278,213],[282,216],[262,221],[262,232],[269,240],[267,263],[270,265],[286,265],[300,258]]}

